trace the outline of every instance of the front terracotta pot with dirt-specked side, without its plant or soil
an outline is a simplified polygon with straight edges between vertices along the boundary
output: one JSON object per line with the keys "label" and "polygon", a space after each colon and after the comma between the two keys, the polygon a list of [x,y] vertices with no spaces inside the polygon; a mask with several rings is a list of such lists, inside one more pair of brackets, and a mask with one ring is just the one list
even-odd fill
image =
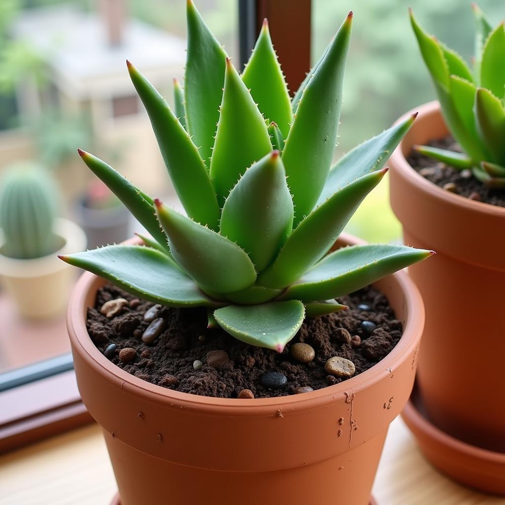
{"label": "front terracotta pot with dirt-specked side, without its plant or soil", "polygon": [[253,400],[181,393],[113,365],[85,323],[104,283],[81,277],[68,329],[79,390],[104,429],[122,505],[306,505],[331,496],[369,503],[388,426],[412,389],[423,329],[422,300],[405,273],[376,283],[405,329],[384,360],[318,391]]}

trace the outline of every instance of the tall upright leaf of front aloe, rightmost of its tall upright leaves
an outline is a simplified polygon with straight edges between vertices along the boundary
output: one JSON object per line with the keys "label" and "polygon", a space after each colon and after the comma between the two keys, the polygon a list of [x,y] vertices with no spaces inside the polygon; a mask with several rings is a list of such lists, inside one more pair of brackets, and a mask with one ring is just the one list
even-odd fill
{"label": "tall upright leaf of front aloe, rightmost of its tall upright leaves", "polygon": [[314,208],[330,170],[351,24],[349,14],[309,80],[284,144],[282,161],[293,195],[294,226]]}

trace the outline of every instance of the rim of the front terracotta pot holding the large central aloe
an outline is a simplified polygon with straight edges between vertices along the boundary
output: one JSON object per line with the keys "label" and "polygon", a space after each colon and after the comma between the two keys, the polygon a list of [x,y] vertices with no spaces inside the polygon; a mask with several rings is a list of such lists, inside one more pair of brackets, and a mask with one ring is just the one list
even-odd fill
{"label": "rim of the front terracotta pot holding the large central aloe", "polygon": [[[137,241],[135,239],[128,242]],[[352,235],[342,233],[338,241],[348,243],[365,243]],[[87,365],[94,369],[96,373],[108,376],[108,380],[123,385],[128,385],[141,392],[132,394],[142,394],[151,401],[170,403],[173,407],[180,408],[198,408],[205,410],[209,415],[216,414],[216,407],[226,409],[228,415],[234,416],[271,416],[272,408],[289,407],[290,412],[300,412],[307,409],[325,408],[328,401],[341,397],[344,394],[352,398],[352,395],[361,393],[371,387],[383,376],[388,376],[391,370],[394,373],[396,365],[405,361],[406,353],[413,352],[416,348],[416,335],[422,331],[424,326],[424,305],[421,295],[406,272],[399,271],[374,284],[393,281],[397,289],[403,293],[403,303],[407,320],[403,323],[403,334],[393,350],[379,363],[367,371],[347,379],[339,384],[328,386],[309,393],[274,396],[270,398],[217,398],[213,396],[199,396],[180,391],[174,391],[162,386],[151,384],[131,375],[118,366],[110,362],[100,352],[86,329],[84,315],[86,314],[86,297],[90,290],[106,283],[105,280],[97,277],[90,272],[85,272],[79,278],[72,295],[70,297],[67,312],[67,328],[72,341],[72,347],[78,348],[79,354],[84,357]],[[74,352],[76,352],[74,350]]]}

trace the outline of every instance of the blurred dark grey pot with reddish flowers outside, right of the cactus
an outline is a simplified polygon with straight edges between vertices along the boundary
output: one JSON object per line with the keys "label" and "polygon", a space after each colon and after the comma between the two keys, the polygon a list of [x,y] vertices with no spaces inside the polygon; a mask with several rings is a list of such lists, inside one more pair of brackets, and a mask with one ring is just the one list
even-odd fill
{"label": "blurred dark grey pot with reddish flowers outside, right of the cactus", "polygon": [[74,214],[86,233],[90,249],[128,238],[128,209],[102,181],[94,180],[89,184],[85,195],[75,203]]}

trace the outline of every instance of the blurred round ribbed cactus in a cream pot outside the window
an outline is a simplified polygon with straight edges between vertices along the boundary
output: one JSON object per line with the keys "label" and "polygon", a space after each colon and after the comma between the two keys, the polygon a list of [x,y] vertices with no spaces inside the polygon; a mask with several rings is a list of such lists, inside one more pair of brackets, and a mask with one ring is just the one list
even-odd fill
{"label": "blurred round ribbed cactus in a cream pot outside the window", "polygon": [[58,199],[51,176],[34,163],[12,165],[0,180],[0,280],[29,319],[65,311],[75,272],[55,253],[86,246],[76,224],[56,217]]}

